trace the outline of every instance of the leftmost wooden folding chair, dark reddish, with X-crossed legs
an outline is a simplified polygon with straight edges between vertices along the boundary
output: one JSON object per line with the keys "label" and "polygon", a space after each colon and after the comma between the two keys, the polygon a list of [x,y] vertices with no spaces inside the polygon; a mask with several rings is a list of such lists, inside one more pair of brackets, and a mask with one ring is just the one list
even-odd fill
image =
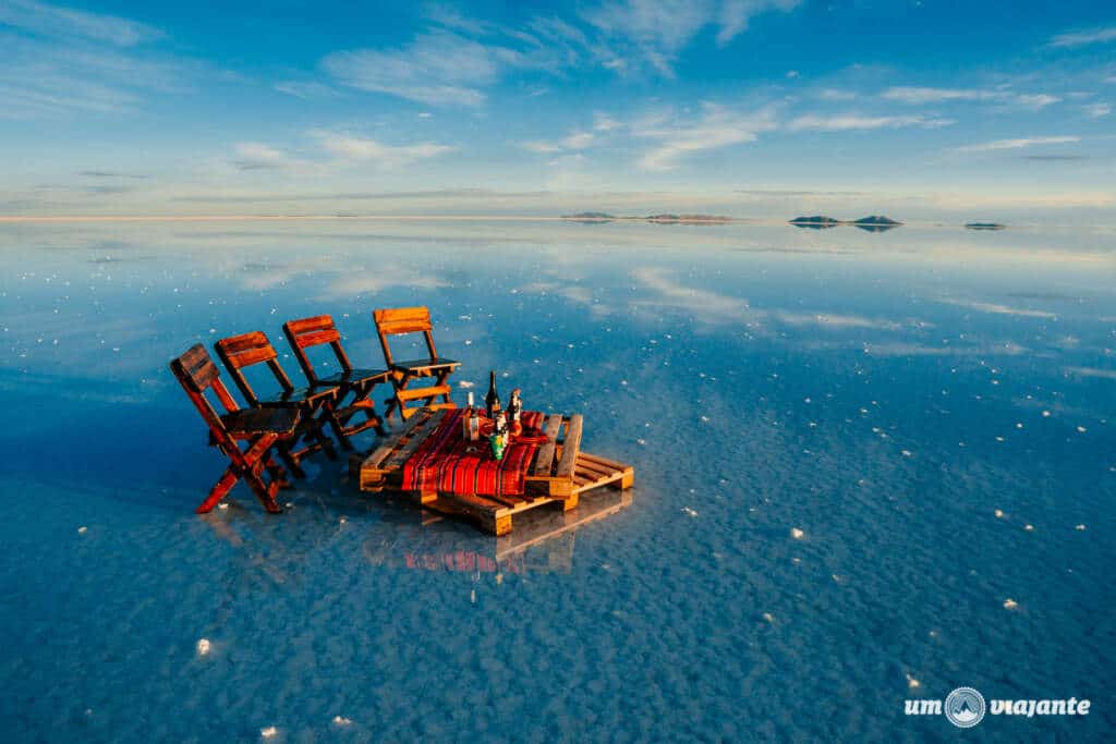
{"label": "leftmost wooden folding chair, dark reddish, with X-crossed legs", "polygon": [[[231,461],[209,496],[198,506],[198,513],[212,511],[240,480],[252,489],[264,509],[271,513],[281,512],[282,509],[276,502],[276,493],[288,485],[287,473],[272,457],[272,450],[295,436],[299,423],[298,410],[238,406],[221,380],[217,365],[201,344],[195,344],[181,357],[172,360],[171,371],[209,425],[210,446],[218,447]],[[205,397],[205,392],[211,388],[224,407],[224,414],[218,414]],[[244,450],[240,448],[241,442],[248,445]],[[264,468],[270,475],[270,482],[263,480]]]}

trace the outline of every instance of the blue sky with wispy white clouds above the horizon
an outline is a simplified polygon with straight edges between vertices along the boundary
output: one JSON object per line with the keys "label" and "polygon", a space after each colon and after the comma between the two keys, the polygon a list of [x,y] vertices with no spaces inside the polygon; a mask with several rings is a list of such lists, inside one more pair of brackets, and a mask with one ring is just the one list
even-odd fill
{"label": "blue sky with wispy white clouds above the horizon", "polygon": [[1110,1],[0,0],[0,214],[1116,213]]}

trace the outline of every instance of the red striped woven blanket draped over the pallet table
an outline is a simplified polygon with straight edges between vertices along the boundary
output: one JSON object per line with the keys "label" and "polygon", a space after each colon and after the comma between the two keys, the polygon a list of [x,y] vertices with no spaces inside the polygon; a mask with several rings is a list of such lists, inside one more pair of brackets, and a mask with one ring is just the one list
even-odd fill
{"label": "red striped woven blanket draped over the pallet table", "polygon": [[462,436],[464,415],[463,408],[448,410],[434,433],[415,450],[403,465],[403,490],[479,496],[523,495],[527,468],[535,451],[547,441],[539,429],[543,414],[523,412],[523,431],[511,437],[503,460],[492,456],[488,439],[470,442]]}

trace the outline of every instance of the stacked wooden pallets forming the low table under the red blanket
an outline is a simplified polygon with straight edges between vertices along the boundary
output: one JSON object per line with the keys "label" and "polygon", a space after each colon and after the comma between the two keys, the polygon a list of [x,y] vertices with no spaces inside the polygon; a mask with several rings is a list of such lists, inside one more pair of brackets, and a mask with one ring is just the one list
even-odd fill
{"label": "stacked wooden pallets forming the low table under the red blanket", "polygon": [[[354,477],[360,490],[402,491],[403,466],[445,415],[442,409],[422,408],[367,457],[354,457]],[[502,535],[511,532],[512,516],[529,509],[559,503],[568,511],[577,506],[581,493],[591,489],[603,485],[632,487],[635,471],[631,465],[581,452],[581,427],[580,414],[549,414],[543,418],[542,431],[549,441],[536,452],[521,496],[448,492],[408,492],[408,495],[426,509],[465,516],[484,531]]]}

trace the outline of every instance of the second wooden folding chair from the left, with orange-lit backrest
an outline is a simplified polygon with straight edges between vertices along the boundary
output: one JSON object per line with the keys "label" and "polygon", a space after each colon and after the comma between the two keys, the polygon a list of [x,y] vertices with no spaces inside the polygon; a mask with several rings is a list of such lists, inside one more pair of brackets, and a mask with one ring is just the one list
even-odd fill
{"label": "second wooden folding chair from the left, with orange-lit backrest", "polygon": [[[231,336],[218,341],[217,354],[229,370],[232,381],[240,388],[241,395],[253,408],[289,408],[299,412],[299,424],[295,436],[286,442],[277,443],[279,456],[287,467],[298,477],[306,473],[299,464],[306,455],[319,450],[333,460],[337,457],[334,443],[323,432],[323,425],[333,415],[334,400],[337,398],[336,387],[300,387],[296,388],[287,373],[279,366],[278,354],[271,341],[262,331],[252,331]],[[244,369],[253,365],[266,364],[279,383],[280,390],[275,395],[261,398],[252,389],[244,377]],[[304,446],[297,448],[299,443]]]}

